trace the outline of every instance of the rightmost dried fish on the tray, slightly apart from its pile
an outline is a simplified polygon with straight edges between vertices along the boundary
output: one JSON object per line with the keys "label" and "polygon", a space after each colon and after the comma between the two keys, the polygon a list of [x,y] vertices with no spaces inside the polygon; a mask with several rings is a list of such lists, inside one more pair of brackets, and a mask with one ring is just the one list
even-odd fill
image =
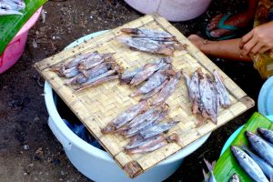
{"label": "rightmost dried fish on the tray, slightly apart from its pile", "polygon": [[229,99],[229,95],[228,95],[226,86],[223,84],[220,76],[217,73],[217,70],[213,71],[213,75],[215,77],[217,92],[219,94],[220,105],[227,108],[231,105],[231,103],[230,103],[230,99]]}

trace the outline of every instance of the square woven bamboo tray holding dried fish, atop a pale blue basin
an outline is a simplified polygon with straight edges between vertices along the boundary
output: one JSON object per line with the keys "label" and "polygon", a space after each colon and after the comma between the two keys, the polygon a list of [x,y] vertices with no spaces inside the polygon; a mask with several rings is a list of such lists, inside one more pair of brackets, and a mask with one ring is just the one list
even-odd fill
{"label": "square woven bamboo tray holding dried fish, atop a pale blue basin", "polygon": [[[101,128],[106,126],[108,122],[138,102],[139,97],[129,97],[135,89],[119,85],[116,80],[101,86],[87,88],[81,92],[75,92],[71,86],[64,85],[64,78],[57,76],[48,67],[56,66],[61,62],[68,62],[76,56],[96,50],[99,53],[116,53],[114,58],[126,69],[144,66],[148,62],[152,62],[153,59],[160,57],[131,50],[126,45],[116,42],[115,37],[121,34],[120,29],[122,27],[160,29],[176,35],[180,43],[188,45],[186,50],[176,51],[173,56],[173,66],[176,70],[183,69],[187,74],[191,74],[197,67],[201,66],[204,72],[211,74],[214,69],[217,69],[219,75],[224,79],[232,102],[228,109],[221,108],[217,117],[217,125],[207,121],[205,125],[197,127],[197,116],[192,115],[191,112],[186,82],[181,79],[175,93],[167,99],[167,104],[170,106],[169,117],[180,121],[177,126],[169,131],[169,133],[176,132],[179,135],[178,143],[168,144],[166,147],[161,147],[147,154],[127,155],[123,147],[128,140],[122,136],[103,135],[101,133]],[[81,45],[36,63],[35,68],[84,123],[90,133],[105,147],[117,164],[132,178],[147,171],[148,168],[154,167],[160,161],[254,106],[254,101],[239,86],[192,45],[173,25],[159,15],[145,15],[126,25],[116,27]]]}

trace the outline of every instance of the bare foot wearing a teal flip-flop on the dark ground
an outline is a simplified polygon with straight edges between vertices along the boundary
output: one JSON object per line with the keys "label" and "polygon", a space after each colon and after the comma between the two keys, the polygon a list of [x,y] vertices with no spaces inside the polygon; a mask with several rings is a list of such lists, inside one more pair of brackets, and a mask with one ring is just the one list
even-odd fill
{"label": "bare foot wearing a teal flip-flop on the dark ground", "polygon": [[[214,18],[211,19],[210,23],[207,25],[207,29],[210,31],[210,35],[212,37],[221,37],[224,35],[230,35],[233,33],[231,30],[227,29],[219,29],[218,23],[224,15],[216,15]],[[231,15],[225,25],[233,25],[235,27],[246,27],[248,23],[251,21],[253,17],[248,15],[247,13],[241,13],[238,15]]]}

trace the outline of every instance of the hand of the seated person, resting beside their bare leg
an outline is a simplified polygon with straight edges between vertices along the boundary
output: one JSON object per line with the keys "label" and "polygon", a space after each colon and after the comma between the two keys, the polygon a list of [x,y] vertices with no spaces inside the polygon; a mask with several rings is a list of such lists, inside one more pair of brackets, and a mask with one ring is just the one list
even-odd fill
{"label": "hand of the seated person, resting beside their bare leg", "polygon": [[273,50],[273,22],[259,25],[244,35],[240,41],[240,49],[242,56]]}

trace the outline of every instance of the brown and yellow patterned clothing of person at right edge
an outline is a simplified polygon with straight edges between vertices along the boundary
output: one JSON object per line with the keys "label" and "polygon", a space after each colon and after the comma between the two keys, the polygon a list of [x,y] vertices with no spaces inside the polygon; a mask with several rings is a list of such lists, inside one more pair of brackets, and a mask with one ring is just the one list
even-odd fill
{"label": "brown and yellow patterned clothing of person at right edge", "polygon": [[[273,0],[259,0],[256,10],[254,27],[265,24],[273,20]],[[272,31],[273,33],[273,31]],[[273,51],[273,50],[272,50]],[[269,53],[251,56],[254,67],[258,70],[260,76],[264,79],[273,76],[273,58]]]}

